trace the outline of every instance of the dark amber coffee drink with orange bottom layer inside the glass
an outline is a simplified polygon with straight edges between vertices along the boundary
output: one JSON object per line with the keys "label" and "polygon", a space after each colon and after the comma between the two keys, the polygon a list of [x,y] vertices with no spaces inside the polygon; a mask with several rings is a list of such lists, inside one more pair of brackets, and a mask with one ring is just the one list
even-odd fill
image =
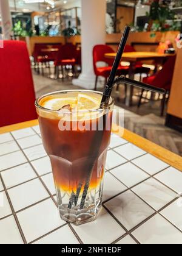
{"label": "dark amber coffee drink with orange bottom layer inside the glass", "polygon": [[[111,115],[107,114],[107,122]],[[103,119],[103,118],[101,118]],[[100,118],[85,121],[91,127],[96,123],[97,130],[59,130],[59,120],[39,116],[44,148],[52,163],[56,188],[68,194],[74,192],[81,184],[81,191],[88,179],[90,168],[89,190],[99,187],[103,180],[106,165],[107,148],[110,143],[110,130],[98,130]],[[70,127],[78,127],[72,121]],[[88,126],[87,126],[88,127]]]}

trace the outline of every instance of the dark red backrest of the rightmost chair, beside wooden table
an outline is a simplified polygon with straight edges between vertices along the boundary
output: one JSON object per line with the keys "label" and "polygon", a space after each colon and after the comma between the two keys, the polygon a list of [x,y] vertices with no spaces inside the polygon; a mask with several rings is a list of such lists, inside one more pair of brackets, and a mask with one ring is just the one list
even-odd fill
{"label": "dark red backrest of the rightmost chair, beside wooden table", "polygon": [[158,71],[158,73],[155,76],[155,79],[152,82],[152,85],[169,89],[170,85],[172,84],[172,78],[174,74],[174,68],[175,68],[175,60],[176,56],[171,56],[166,63],[163,65],[163,69]]}

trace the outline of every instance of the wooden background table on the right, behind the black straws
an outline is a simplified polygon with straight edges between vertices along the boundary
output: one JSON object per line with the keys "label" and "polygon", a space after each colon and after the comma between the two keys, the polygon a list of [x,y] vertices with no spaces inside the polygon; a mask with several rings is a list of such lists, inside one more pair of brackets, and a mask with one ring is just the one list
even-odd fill
{"label": "wooden background table on the right, behind the black straws", "polygon": [[[163,64],[164,61],[173,56],[174,54],[159,54],[158,52],[124,52],[122,56],[123,62],[130,62],[129,78],[134,79],[135,77],[135,66],[137,62],[143,62],[145,60],[153,60],[157,63]],[[105,57],[115,59],[116,52],[105,54]],[[126,105],[130,107],[132,105],[133,87],[127,86],[126,93]]]}

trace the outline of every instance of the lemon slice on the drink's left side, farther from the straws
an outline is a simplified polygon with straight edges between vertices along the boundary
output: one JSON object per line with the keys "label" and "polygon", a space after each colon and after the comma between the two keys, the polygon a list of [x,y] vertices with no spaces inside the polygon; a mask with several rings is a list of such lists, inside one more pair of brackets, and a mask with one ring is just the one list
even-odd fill
{"label": "lemon slice on the drink's left side, farther from the straws", "polygon": [[70,105],[71,108],[75,108],[77,105],[77,98],[52,98],[41,104],[42,107],[50,110],[59,110],[65,105]]}

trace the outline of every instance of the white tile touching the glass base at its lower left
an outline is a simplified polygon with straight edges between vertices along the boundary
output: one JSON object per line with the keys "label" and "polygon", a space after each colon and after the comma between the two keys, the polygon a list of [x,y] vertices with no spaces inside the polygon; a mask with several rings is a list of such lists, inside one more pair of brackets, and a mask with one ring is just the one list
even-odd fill
{"label": "white tile touching the glass base at its lower left", "polygon": [[66,223],[60,218],[52,199],[27,208],[17,216],[28,243]]}

